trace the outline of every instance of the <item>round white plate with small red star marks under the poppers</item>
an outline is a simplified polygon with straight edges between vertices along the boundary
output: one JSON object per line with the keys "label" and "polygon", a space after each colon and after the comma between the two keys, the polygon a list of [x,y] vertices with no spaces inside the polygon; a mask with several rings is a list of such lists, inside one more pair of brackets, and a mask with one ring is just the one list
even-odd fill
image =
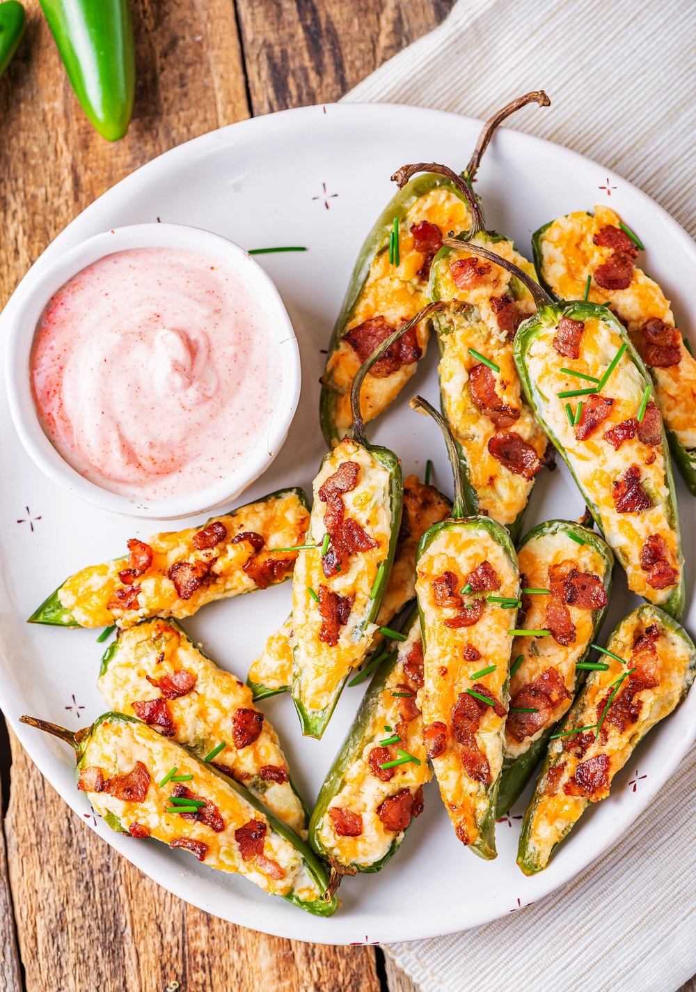
{"label": "round white plate with small red star marks under the poppers", "polygon": [[[302,254],[260,256],[294,324],[302,396],[285,448],[248,496],[286,484],[310,491],[324,453],[317,418],[321,349],[363,238],[394,191],[389,178],[407,162],[434,160],[463,168],[479,128],[477,121],[437,111],[358,104],[304,107],[243,121],[175,148],[114,186],[65,228],[36,267],[92,234],[158,218],[205,227],[248,248],[306,245]],[[641,264],[672,299],[679,325],[686,333],[691,329],[696,247],[638,189],[588,159],[511,130],[495,138],[476,188],[489,226],[514,237],[527,257],[529,235],[543,222],[570,210],[592,209],[595,203],[615,206],[649,246]],[[11,301],[0,326],[12,306]],[[436,402],[436,350],[431,344],[400,400],[368,433],[399,452],[405,474],[415,470],[422,476],[425,459],[432,458],[435,483],[451,493],[437,429],[407,407],[416,392]],[[30,713],[76,729],[105,708],[95,685],[102,652],[96,632],[27,626],[24,621],[69,573],[113,558],[127,538],[147,538],[160,528],[157,522],[129,520],[88,506],[48,481],[20,446],[4,390],[0,450],[2,708],[41,771],[90,827],[175,895],[223,919],[287,937],[363,943],[433,936],[507,916],[571,879],[621,837],[696,737],[692,692],[639,747],[617,777],[611,798],[584,815],[546,871],[533,878],[525,878],[515,863],[524,801],[498,825],[498,859],[484,862],[455,838],[433,782],[425,790],[424,813],[390,864],[376,875],[346,879],[340,910],[329,920],[317,920],[243,879],[198,865],[183,851],[113,833],[93,819],[85,798],[76,792],[70,750],[18,724],[22,713]],[[691,589],[696,503],[680,481],[677,485]],[[579,517],[582,511],[580,495],[561,465],[554,474],[539,477],[527,521],[531,526],[552,517]],[[637,602],[621,569],[615,588],[606,631]],[[251,660],[289,607],[286,583],[206,606],[185,626],[218,664],[246,678]],[[687,625],[693,614],[692,607]],[[288,696],[262,703],[284,742],[293,779],[310,803],[361,690],[356,686],[344,692],[321,741],[300,736]]]}

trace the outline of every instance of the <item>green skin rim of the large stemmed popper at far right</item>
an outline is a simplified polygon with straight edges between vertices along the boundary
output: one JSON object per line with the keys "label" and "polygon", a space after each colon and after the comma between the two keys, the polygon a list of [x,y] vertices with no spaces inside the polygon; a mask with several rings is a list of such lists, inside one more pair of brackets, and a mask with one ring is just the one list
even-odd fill
{"label": "green skin rim of the large stemmed popper at far right", "polygon": [[[622,341],[627,344],[627,356],[638,368],[638,372],[642,376],[646,384],[651,384],[652,380],[642,363],[638,351],[631,343],[624,326],[619,322],[619,320],[614,316],[611,310],[607,310],[606,307],[599,307],[597,304],[590,303],[571,303],[565,304],[563,306],[546,306],[540,308],[536,314],[530,316],[528,319],[524,320],[520,324],[518,333],[515,336],[514,344],[514,355],[515,364],[518,369],[518,374],[520,375],[520,380],[522,382],[522,389],[526,395],[526,400],[531,407],[534,416],[543,428],[543,430],[548,434],[550,440],[553,442],[557,451],[565,461],[566,465],[570,469],[570,473],[577,483],[578,489],[582,493],[582,497],[587,504],[587,508],[592,514],[600,533],[602,531],[602,522],[599,512],[599,508],[594,500],[591,498],[590,494],[583,488],[581,482],[575,475],[573,467],[569,462],[568,457],[562,444],[559,442],[556,435],[553,433],[552,428],[547,422],[544,416],[544,399],[538,392],[536,387],[532,384],[526,363],[526,354],[529,347],[533,341],[533,338],[539,334],[543,329],[549,326],[555,326],[561,316],[569,317],[571,320],[589,320],[595,318],[603,321],[604,323],[610,324],[617,334],[622,338]],[[667,520],[669,526],[674,530],[677,536],[677,546],[679,549],[679,564],[680,564],[680,578],[679,584],[675,586],[672,592],[669,594],[668,598],[660,604],[660,608],[665,610],[667,613],[671,614],[676,619],[679,619],[684,611],[685,602],[685,584],[684,584],[684,559],[681,553],[681,531],[679,526],[679,512],[677,509],[677,499],[676,490],[674,487],[674,475],[672,472],[671,460],[669,458],[669,449],[667,447],[667,438],[664,434],[664,426],[662,426],[662,450],[664,452],[664,476],[667,488],[669,489],[669,500],[667,503],[668,513]]]}

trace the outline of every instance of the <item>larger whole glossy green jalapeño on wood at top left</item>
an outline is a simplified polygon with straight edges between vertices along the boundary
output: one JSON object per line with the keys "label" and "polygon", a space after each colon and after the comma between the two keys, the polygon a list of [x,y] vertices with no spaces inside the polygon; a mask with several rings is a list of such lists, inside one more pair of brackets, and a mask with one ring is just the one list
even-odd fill
{"label": "larger whole glossy green jalape\u00f1o on wood at top left", "polygon": [[135,96],[130,0],[40,0],[70,84],[107,141],[128,130]]}

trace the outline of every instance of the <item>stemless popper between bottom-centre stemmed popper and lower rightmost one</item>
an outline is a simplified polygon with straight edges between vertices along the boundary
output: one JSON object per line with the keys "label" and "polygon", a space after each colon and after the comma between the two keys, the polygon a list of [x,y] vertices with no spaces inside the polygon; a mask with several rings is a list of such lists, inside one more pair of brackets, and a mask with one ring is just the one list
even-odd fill
{"label": "stemless popper between bottom-centre stemmed popper and lower rightmost one", "polygon": [[607,613],[614,556],[594,531],[565,520],[539,524],[518,550],[521,634],[513,642],[498,815],[518,799],[553,727],[592,663]]}

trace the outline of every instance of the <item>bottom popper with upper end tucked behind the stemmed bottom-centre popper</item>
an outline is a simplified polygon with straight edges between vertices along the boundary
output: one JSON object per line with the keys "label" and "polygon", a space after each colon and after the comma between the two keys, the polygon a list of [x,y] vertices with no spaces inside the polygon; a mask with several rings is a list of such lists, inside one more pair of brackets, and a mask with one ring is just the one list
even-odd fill
{"label": "bottom popper with upper end tucked behind the stemmed bottom-centre popper", "polygon": [[339,874],[384,868],[422,811],[432,777],[416,698],[423,683],[416,609],[403,636],[370,683],[309,820],[309,843]]}

